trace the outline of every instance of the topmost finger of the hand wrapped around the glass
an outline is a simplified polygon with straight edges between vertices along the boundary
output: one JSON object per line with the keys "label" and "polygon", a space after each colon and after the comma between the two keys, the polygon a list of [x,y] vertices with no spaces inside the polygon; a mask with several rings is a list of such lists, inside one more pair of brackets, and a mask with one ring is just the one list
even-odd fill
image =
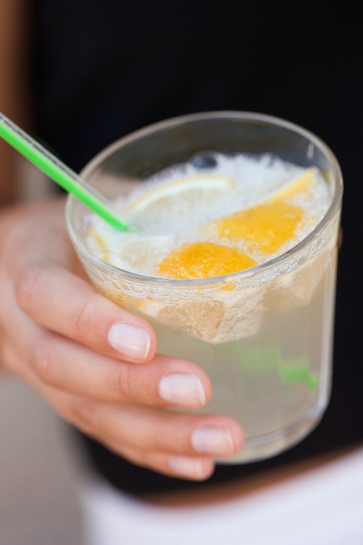
{"label": "topmost finger of the hand wrapped around the glass", "polygon": [[62,267],[42,262],[23,268],[16,296],[36,322],[96,352],[134,363],[155,355],[156,336],[145,320],[108,301]]}

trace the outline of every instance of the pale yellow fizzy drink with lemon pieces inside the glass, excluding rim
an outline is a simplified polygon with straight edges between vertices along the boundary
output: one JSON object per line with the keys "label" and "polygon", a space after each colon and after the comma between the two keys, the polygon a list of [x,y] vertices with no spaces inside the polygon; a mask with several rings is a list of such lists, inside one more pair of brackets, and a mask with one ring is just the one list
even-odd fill
{"label": "pale yellow fizzy drink with lemon pieces inside the glass, excluding rim", "polygon": [[328,399],[336,226],[280,269],[252,272],[304,239],[330,202],[317,169],[219,155],[212,172],[183,165],[119,198],[140,231],[116,234],[96,219],[89,229],[93,252],[136,274],[192,282],[251,270],[250,278],[184,293],[95,280],[152,323],[160,353],[208,373],[213,397],[203,410],[233,416],[246,434],[230,462],[262,459],[298,441]]}

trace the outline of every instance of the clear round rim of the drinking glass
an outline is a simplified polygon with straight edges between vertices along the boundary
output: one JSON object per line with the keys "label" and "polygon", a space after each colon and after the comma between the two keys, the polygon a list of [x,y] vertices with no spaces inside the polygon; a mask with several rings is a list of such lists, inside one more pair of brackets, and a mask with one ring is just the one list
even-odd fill
{"label": "clear round rim of the drinking glass", "polygon": [[271,268],[274,268],[276,265],[281,265],[283,262],[291,260],[295,255],[298,255],[301,250],[303,250],[314,238],[318,237],[318,235],[323,231],[326,223],[333,217],[336,213],[336,211],[340,208],[341,201],[342,201],[342,194],[343,194],[343,178],[342,178],[342,172],[340,169],[340,165],[338,163],[338,160],[335,156],[335,154],[332,152],[332,150],[325,144],[321,138],[316,136],[313,132],[308,131],[307,129],[304,129],[300,125],[297,125],[295,123],[292,123],[290,121],[286,121],[285,119],[282,119],[280,117],[276,116],[270,116],[269,114],[263,114],[263,113],[256,113],[256,112],[239,112],[239,111],[215,111],[215,112],[202,112],[202,113],[192,113],[187,114],[185,116],[178,116],[166,119],[164,121],[160,121],[157,123],[153,123],[151,125],[147,125],[146,127],[142,129],[138,129],[136,131],[131,132],[130,134],[119,138],[119,140],[116,140],[103,150],[96,154],[93,159],[91,159],[86,166],[82,169],[80,175],[87,179],[88,174],[94,171],[96,167],[98,167],[105,159],[107,159],[112,153],[116,152],[119,148],[123,147],[125,144],[128,144],[130,142],[133,142],[137,140],[140,137],[146,136],[156,130],[159,129],[165,129],[171,126],[175,126],[179,123],[185,123],[190,121],[196,121],[196,120],[207,120],[207,119],[217,119],[217,118],[231,118],[231,119],[245,119],[245,120],[251,120],[251,121],[261,121],[265,123],[269,123],[271,125],[277,125],[282,128],[292,130],[301,136],[306,137],[310,142],[312,142],[317,148],[319,148],[320,152],[322,152],[325,157],[328,159],[331,170],[333,174],[333,181],[334,181],[334,196],[332,197],[332,201],[330,203],[330,206],[328,210],[326,210],[326,213],[322,217],[322,219],[319,221],[318,225],[314,227],[314,229],[298,244],[295,244],[291,249],[287,250],[286,252],[283,252],[281,255],[270,259],[269,261],[265,261],[264,263],[261,263],[259,265],[255,265],[255,267],[251,267],[250,269],[245,269],[243,271],[237,271],[237,272],[231,272],[226,275],[221,276],[212,276],[208,278],[158,278],[154,276],[146,276],[137,274],[136,272],[127,271],[125,269],[122,269],[120,267],[117,267],[116,265],[112,265],[110,263],[107,263],[103,261],[101,258],[96,256],[94,253],[92,253],[86,244],[84,244],[83,240],[78,237],[76,230],[74,226],[72,225],[72,213],[74,211],[74,206],[78,202],[77,198],[73,195],[69,194],[68,198],[66,200],[66,207],[65,207],[65,221],[66,221],[66,228],[68,230],[69,237],[72,241],[72,243],[75,246],[76,251],[80,252],[83,257],[87,258],[90,262],[93,263],[95,268],[102,268],[106,269],[109,272],[117,273],[124,277],[127,280],[130,280],[132,282],[142,282],[147,284],[153,284],[158,286],[164,286],[164,287],[213,287],[215,284],[226,284],[226,283],[232,283],[236,282],[237,280],[243,280],[243,278],[250,278],[251,276],[255,276],[263,271],[268,271]]}

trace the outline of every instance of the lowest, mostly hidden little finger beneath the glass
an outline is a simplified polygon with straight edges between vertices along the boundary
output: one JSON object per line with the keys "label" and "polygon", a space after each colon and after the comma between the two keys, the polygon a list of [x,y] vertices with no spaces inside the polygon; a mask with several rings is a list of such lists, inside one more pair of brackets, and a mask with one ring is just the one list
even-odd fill
{"label": "lowest, mostly hidden little finger beneath the glass", "polygon": [[214,462],[207,457],[176,456],[165,452],[145,452],[127,447],[119,449],[112,443],[106,446],[134,464],[170,477],[178,477],[178,479],[204,481],[214,471]]}

